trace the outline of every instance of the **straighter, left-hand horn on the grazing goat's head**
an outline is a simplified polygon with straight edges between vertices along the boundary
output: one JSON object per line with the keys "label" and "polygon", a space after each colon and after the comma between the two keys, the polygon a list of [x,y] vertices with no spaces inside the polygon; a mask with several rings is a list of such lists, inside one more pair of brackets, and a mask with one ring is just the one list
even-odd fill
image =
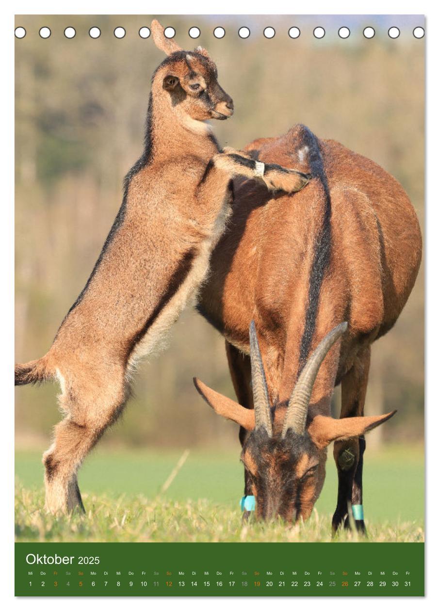
{"label": "straighter, left-hand horn on the grazing goat's head", "polygon": [[255,428],[265,428],[268,436],[271,437],[273,425],[271,424],[270,399],[268,398],[267,380],[265,379],[264,364],[260,356],[254,320],[250,324],[250,360]]}

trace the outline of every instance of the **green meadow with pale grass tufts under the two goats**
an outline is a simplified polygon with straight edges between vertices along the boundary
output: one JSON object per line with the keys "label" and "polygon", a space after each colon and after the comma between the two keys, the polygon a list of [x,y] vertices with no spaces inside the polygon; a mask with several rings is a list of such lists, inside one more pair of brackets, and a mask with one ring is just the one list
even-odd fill
{"label": "green meadow with pale grass tufts under the two goats", "polygon": [[[193,452],[165,494],[161,486],[180,453],[109,452],[87,459],[79,485],[86,516],[53,518],[43,507],[37,453],[17,453],[18,541],[330,541],[336,469],[328,452],[326,481],[306,524],[242,525],[238,453]],[[421,447],[369,453],[364,469],[364,510],[369,540],[421,541],[424,460]],[[342,533],[341,540],[356,535]]]}

